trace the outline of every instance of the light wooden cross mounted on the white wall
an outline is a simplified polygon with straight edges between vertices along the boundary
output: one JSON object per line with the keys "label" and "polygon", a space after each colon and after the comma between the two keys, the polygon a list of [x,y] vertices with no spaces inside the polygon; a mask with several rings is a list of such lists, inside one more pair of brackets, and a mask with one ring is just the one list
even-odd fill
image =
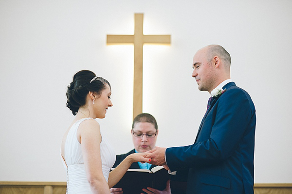
{"label": "light wooden cross mounted on the white wall", "polygon": [[107,35],[107,44],[134,44],[134,106],[133,118],[142,113],[143,44],[170,44],[170,35],[144,35],[143,14],[135,14],[134,35]]}

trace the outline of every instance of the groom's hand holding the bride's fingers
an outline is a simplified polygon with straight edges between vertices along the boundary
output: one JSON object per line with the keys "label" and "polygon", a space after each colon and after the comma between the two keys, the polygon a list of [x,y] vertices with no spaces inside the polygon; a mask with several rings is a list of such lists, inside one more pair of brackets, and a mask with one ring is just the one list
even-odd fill
{"label": "groom's hand holding the bride's fingers", "polygon": [[155,147],[153,150],[147,151],[146,158],[151,158],[150,164],[156,164],[158,166],[163,166],[166,164],[165,153],[166,148]]}

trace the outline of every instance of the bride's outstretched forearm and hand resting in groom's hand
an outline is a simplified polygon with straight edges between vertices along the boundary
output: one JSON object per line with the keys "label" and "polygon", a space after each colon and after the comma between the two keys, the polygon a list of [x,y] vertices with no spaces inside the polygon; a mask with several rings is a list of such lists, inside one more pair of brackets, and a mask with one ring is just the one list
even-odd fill
{"label": "bride's outstretched forearm and hand resting in groom's hand", "polygon": [[110,172],[109,175],[109,187],[112,188],[115,184],[117,184],[123,175],[127,172],[128,168],[131,166],[133,162],[149,162],[151,159],[145,158],[145,155],[148,153],[135,153],[128,155],[113,171]]}

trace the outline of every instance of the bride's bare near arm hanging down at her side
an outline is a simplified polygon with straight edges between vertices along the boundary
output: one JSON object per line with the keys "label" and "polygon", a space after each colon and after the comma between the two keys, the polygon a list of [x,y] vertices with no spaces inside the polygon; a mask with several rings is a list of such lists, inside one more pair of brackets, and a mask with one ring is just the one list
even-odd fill
{"label": "bride's bare near arm hanging down at her side", "polygon": [[99,123],[93,119],[80,123],[77,138],[81,143],[86,176],[92,193],[110,194],[108,183],[102,172]]}

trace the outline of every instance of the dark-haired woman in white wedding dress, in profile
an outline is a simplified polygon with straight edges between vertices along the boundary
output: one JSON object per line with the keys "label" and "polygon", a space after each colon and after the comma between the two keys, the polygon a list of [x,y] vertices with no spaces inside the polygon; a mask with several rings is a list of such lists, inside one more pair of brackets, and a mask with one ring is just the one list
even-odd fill
{"label": "dark-haired woman in white wedding dress, in profile", "polygon": [[110,194],[133,162],[149,162],[147,153],[128,155],[113,171],[115,154],[95,118],[112,106],[110,83],[88,70],[77,72],[67,90],[75,119],[65,132],[61,156],[67,170],[67,194]]}

